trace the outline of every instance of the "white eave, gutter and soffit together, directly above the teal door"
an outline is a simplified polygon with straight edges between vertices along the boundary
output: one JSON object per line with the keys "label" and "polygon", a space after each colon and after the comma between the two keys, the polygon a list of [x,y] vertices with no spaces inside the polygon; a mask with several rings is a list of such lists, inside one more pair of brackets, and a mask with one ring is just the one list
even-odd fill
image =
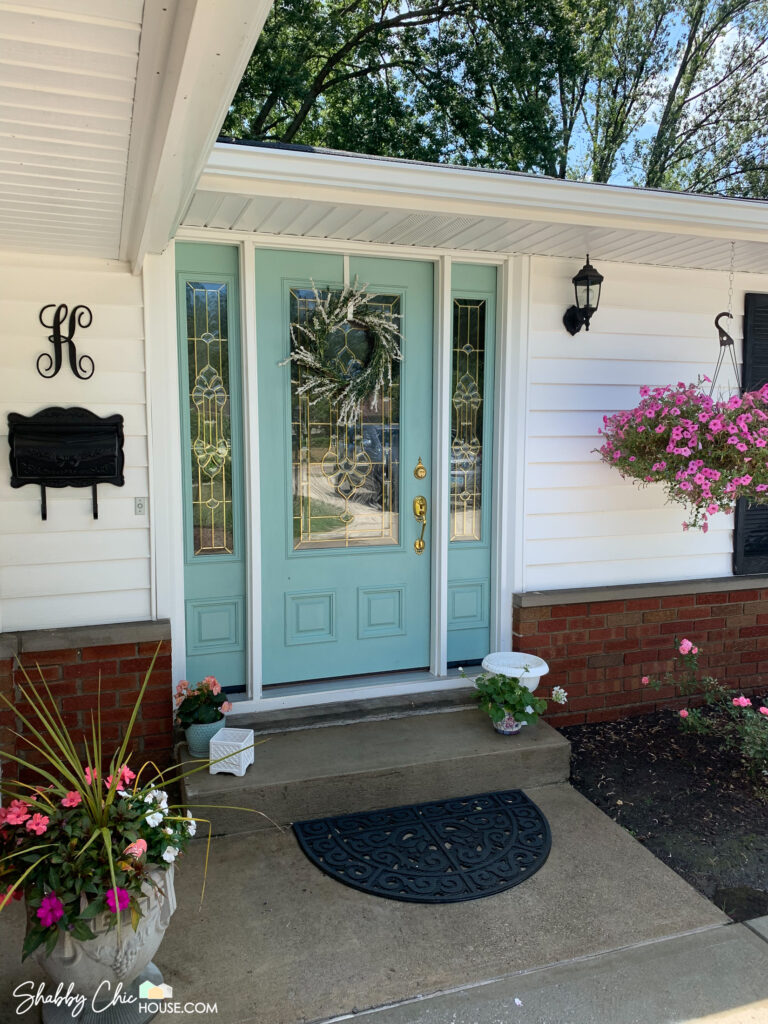
{"label": "white eave, gutter and soffit together, directly above the teal door", "polygon": [[218,143],[190,229],[768,272],[768,203]]}

